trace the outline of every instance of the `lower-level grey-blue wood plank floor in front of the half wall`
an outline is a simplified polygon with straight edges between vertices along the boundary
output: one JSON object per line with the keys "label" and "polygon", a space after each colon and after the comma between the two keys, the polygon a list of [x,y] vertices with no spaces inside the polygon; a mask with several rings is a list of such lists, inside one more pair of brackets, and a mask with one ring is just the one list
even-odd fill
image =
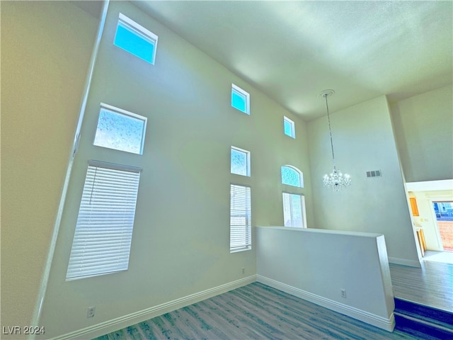
{"label": "lower-level grey-blue wood plank floor in front of the half wall", "polygon": [[420,338],[384,331],[262,283],[251,283],[97,339]]}

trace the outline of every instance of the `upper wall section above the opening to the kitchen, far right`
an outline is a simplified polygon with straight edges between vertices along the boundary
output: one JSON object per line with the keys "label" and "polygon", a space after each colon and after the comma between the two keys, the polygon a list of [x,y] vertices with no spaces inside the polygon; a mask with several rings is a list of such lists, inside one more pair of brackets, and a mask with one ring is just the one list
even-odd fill
{"label": "upper wall section above the opening to the kitchen, far right", "polygon": [[453,179],[453,88],[391,103],[396,142],[408,182]]}

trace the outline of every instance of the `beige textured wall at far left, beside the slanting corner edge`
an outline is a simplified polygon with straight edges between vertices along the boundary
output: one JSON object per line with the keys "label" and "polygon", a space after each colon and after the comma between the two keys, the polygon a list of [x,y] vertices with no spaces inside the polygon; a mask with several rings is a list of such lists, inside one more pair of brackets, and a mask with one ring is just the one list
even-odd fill
{"label": "beige textured wall at far left, beside the slanting corner edge", "polygon": [[0,6],[1,326],[24,327],[38,300],[97,21],[69,2]]}

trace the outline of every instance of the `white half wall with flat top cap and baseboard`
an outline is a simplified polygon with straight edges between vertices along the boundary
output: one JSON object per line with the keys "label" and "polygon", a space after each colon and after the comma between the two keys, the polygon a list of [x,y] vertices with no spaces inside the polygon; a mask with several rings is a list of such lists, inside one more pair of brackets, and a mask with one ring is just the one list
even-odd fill
{"label": "white half wall with flat top cap and baseboard", "polygon": [[[394,299],[383,235],[257,227],[258,281],[386,330]],[[341,290],[346,297],[341,297]]]}

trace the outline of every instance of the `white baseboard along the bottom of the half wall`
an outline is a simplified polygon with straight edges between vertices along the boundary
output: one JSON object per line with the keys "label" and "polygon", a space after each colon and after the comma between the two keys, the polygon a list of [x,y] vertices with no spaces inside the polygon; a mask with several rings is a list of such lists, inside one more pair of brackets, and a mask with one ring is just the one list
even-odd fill
{"label": "white baseboard along the bottom of the half wall", "polygon": [[386,331],[393,331],[395,328],[395,317],[394,313],[391,313],[389,319],[385,317],[380,317],[379,315],[365,312],[365,310],[359,310],[358,308],[344,305],[343,303],[336,302],[334,300],[329,300],[326,297],[322,297],[313,293],[306,292],[305,290],[292,287],[285,283],[281,283],[272,278],[266,278],[265,276],[256,276],[256,280],[265,285],[269,285],[278,290],[282,290],[285,293],[300,297],[309,302],[313,302],[316,305],[326,307],[329,310],[339,312],[341,314],[348,315],[348,317],[353,317],[354,319],[366,322],[367,324],[372,324],[373,326],[385,329]]}

